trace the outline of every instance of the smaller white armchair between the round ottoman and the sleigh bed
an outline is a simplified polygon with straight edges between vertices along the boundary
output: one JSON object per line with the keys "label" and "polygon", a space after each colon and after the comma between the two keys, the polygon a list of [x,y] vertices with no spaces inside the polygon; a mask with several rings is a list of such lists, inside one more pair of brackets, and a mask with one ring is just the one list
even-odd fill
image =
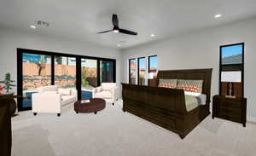
{"label": "smaller white armchair between the round ottoman and the sleigh bed", "polygon": [[118,87],[116,83],[102,83],[102,86],[92,90],[92,98],[102,98],[114,104],[118,100]]}

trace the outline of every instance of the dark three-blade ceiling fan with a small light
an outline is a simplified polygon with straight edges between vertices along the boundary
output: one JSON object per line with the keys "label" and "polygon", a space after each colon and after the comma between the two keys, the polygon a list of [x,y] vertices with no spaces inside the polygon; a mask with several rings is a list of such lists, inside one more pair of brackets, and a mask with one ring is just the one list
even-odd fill
{"label": "dark three-blade ceiling fan with a small light", "polygon": [[131,31],[119,28],[119,19],[118,19],[117,14],[112,15],[112,23],[113,23],[113,29],[112,30],[98,32],[98,33],[106,33],[106,32],[118,33],[118,32],[120,32],[120,33],[125,33],[125,34],[128,34],[128,35],[137,35],[137,32],[131,32]]}

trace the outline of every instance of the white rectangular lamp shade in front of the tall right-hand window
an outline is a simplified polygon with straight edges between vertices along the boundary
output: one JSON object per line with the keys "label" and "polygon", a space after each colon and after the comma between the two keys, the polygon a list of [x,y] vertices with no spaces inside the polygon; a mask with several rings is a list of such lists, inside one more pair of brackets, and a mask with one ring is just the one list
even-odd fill
{"label": "white rectangular lamp shade in front of the tall right-hand window", "polygon": [[241,82],[241,72],[221,72],[221,82]]}

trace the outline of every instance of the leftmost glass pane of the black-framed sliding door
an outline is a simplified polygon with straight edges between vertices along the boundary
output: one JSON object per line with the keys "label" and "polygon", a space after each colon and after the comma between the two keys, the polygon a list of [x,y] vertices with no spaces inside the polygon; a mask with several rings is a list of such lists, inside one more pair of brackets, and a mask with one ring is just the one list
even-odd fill
{"label": "leftmost glass pane of the black-framed sliding door", "polygon": [[21,107],[32,107],[32,94],[38,87],[51,84],[51,56],[22,54],[22,103]]}

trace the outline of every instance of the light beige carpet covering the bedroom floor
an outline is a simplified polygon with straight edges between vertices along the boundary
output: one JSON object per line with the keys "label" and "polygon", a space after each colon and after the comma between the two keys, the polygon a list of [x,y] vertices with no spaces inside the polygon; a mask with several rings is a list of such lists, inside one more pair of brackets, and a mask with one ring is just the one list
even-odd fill
{"label": "light beige carpet covering the bedroom floor", "polygon": [[207,117],[181,140],[172,131],[122,112],[122,101],[97,113],[73,106],[12,119],[13,156],[254,156],[256,124]]}

